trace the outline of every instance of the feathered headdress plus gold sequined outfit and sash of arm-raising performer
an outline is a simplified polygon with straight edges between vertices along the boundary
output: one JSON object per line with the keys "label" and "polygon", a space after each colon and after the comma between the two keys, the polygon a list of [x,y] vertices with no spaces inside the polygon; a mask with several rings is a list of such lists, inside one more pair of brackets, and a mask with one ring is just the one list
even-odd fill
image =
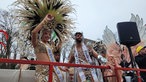
{"label": "feathered headdress plus gold sequined outfit and sash of arm-raising performer", "polygon": [[[18,17],[20,21],[21,30],[25,32],[24,39],[30,38],[31,31],[39,25],[48,13],[51,14],[54,19],[51,22],[44,23],[43,27],[53,31],[53,38],[51,38],[51,40],[54,42],[57,40],[59,44],[59,42],[65,42],[71,37],[73,22],[68,14],[73,11],[73,8],[68,0],[17,0],[14,5],[17,8],[16,17]],[[57,47],[57,45],[50,46],[39,41],[35,53],[47,53],[49,54],[49,60],[56,62],[53,53],[58,49]],[[54,75],[56,75],[53,76],[55,77],[53,82],[63,82],[63,75],[59,67],[54,66],[53,68]],[[48,82],[48,70],[48,66],[39,65],[36,67],[36,76],[39,82]]]}

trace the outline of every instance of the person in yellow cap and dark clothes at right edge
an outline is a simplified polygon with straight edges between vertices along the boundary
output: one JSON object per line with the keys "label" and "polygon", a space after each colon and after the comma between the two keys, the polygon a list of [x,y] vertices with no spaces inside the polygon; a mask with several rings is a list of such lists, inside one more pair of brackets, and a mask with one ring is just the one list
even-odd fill
{"label": "person in yellow cap and dark clothes at right edge", "polygon": [[[146,47],[138,46],[136,48],[136,52],[138,53],[135,56],[135,61],[138,64],[140,69],[146,69]],[[146,72],[140,72],[143,82],[146,82]]]}

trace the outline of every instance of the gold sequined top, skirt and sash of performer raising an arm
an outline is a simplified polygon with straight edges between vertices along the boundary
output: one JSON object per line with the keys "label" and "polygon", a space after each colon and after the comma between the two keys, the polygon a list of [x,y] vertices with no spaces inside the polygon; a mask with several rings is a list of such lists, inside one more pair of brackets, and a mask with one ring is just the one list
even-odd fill
{"label": "gold sequined top, skirt and sash of performer raising an arm", "polygon": [[[39,42],[36,51],[39,50],[39,52],[47,52],[49,55],[49,59],[52,62],[56,62],[54,55],[52,53],[52,49],[49,45],[44,44],[43,42]],[[48,66],[44,65],[38,65],[36,67],[36,77],[38,82],[47,82],[48,81]],[[54,66],[54,73],[53,73],[53,82],[63,82],[63,75],[61,70],[58,68],[58,66]]]}

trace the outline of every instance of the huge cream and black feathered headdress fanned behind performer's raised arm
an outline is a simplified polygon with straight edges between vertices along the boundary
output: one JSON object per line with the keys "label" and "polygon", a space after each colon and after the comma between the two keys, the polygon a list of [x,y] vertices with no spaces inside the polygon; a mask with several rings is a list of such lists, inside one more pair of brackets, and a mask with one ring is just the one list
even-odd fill
{"label": "huge cream and black feathered headdress fanned behind performer's raised arm", "polygon": [[27,36],[30,36],[31,31],[48,13],[54,20],[46,26],[53,29],[53,34],[59,39],[66,40],[73,31],[73,22],[68,16],[73,12],[73,8],[68,0],[17,0],[14,5],[21,25],[28,33]]}

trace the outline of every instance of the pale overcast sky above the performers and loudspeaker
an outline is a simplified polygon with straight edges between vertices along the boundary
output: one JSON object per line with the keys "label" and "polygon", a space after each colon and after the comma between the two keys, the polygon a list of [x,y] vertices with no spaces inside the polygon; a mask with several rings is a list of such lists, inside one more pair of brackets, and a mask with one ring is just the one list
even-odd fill
{"label": "pale overcast sky above the performers and loudspeaker", "polygon": [[[1,0],[0,8],[6,9],[15,0]],[[146,23],[146,0],[71,0],[76,9],[76,31],[86,38],[102,39],[106,26],[117,32],[118,22],[129,21],[131,13],[139,15]]]}

